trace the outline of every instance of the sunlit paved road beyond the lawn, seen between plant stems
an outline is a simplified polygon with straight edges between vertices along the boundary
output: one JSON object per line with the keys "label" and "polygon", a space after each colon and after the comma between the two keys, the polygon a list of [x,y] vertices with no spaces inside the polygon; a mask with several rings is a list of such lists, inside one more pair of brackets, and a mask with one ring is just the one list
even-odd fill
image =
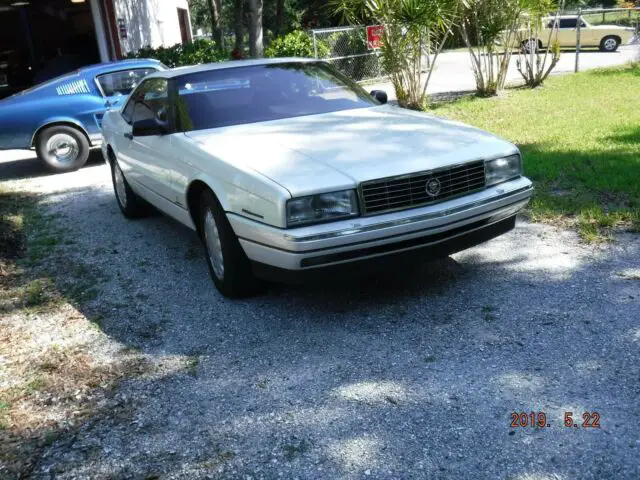
{"label": "sunlit paved road beyond the lawn, seen between plant stems", "polygon": [[[554,73],[563,74],[574,71],[576,54],[565,51],[560,57]],[[603,53],[597,50],[588,50],[580,54],[581,71],[594,68],[612,67],[622,65],[634,59],[640,60],[640,46],[624,46],[615,53]],[[516,68],[516,57],[511,60],[507,83],[521,82],[522,77]],[[367,85],[367,90],[374,88],[387,92],[390,99],[395,99],[393,87],[388,82],[375,85]],[[428,93],[449,93],[475,90],[475,80],[471,69],[471,61],[467,52],[444,53],[438,58],[436,71],[429,83]]]}

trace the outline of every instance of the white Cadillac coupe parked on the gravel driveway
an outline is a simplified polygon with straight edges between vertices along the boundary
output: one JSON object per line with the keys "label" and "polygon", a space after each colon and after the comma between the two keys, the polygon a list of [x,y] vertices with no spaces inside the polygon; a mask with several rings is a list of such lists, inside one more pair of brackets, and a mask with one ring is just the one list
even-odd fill
{"label": "white Cadillac coupe parked on the gravel driveway", "polygon": [[151,204],[195,229],[230,297],[515,226],[533,189],[514,145],[385,103],[314,60],[178,68],[105,115],[102,148],[124,215]]}

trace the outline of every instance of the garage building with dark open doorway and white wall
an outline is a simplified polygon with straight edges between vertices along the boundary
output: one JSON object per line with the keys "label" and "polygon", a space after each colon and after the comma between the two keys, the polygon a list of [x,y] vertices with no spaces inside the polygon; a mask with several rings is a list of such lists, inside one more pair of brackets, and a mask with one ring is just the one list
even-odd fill
{"label": "garage building with dark open doorway and white wall", "polygon": [[190,40],[186,0],[0,0],[0,99],[146,45]]}

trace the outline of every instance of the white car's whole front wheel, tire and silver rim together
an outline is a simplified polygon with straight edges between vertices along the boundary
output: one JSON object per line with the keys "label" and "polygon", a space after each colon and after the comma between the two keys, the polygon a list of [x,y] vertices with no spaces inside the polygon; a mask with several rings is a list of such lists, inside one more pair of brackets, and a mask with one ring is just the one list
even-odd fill
{"label": "white car's whole front wheel, tire and silver rim together", "polygon": [[228,298],[244,298],[258,291],[259,283],[220,203],[210,190],[200,196],[198,232],[211,279]]}

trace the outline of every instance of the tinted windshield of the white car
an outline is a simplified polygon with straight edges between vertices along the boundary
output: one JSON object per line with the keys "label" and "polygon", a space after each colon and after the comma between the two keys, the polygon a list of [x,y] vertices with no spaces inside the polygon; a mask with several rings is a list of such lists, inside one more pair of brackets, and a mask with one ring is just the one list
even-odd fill
{"label": "tinted windshield of the white car", "polygon": [[178,78],[182,131],[367,108],[379,103],[322,62],[209,70]]}

